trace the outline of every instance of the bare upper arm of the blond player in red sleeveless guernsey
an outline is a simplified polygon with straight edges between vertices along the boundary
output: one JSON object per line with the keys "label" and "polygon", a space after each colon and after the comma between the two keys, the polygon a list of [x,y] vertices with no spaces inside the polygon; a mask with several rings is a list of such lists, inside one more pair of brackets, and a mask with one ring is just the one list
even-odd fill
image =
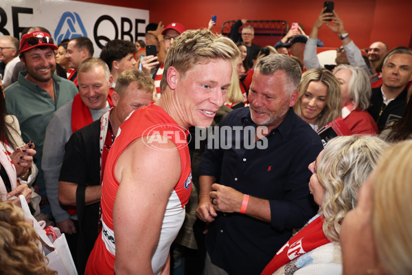
{"label": "bare upper arm of the blond player in red sleeveless guernsey", "polygon": [[[115,166],[119,189],[113,208],[116,274],[153,274],[165,208],[181,174],[181,160],[172,142],[156,150],[135,140]],[[165,256],[166,261],[167,254]]]}

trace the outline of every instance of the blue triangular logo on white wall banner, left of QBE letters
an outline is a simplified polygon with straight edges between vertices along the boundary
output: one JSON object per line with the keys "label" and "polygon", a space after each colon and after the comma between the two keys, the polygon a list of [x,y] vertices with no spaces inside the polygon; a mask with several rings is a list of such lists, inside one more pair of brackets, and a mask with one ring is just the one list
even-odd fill
{"label": "blue triangular logo on white wall banner, left of QBE letters", "polygon": [[65,12],[58,22],[54,38],[60,44],[63,39],[73,39],[75,37],[87,36],[82,19],[77,12]]}

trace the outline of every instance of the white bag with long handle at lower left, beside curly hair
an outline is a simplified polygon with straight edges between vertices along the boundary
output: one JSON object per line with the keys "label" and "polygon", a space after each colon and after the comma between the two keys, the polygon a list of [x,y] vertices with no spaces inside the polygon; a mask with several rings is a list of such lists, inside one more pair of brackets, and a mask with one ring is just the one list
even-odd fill
{"label": "white bag with long handle at lower left, beside curly hair", "polygon": [[36,230],[38,236],[42,241],[49,246],[49,248],[54,248],[53,252],[49,252],[47,248],[45,248],[47,258],[49,259],[49,269],[56,270],[58,275],[77,275],[76,265],[74,265],[73,258],[71,257],[71,253],[69,250],[69,245],[67,244],[66,236],[64,233],[59,236],[54,243],[50,241],[49,237],[47,236],[45,230],[38,224],[38,221],[33,217],[32,213],[30,213],[29,206],[27,205],[27,201],[23,195],[19,196],[21,201],[21,208],[23,208],[24,216],[27,219],[33,220],[33,227]]}

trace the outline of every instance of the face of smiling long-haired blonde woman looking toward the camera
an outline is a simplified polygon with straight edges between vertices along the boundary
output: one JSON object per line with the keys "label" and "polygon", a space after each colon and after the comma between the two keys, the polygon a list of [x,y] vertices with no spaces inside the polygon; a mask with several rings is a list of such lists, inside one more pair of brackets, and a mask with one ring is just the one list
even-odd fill
{"label": "face of smiling long-haired blonde woman looking toward the camera", "polygon": [[309,124],[317,124],[319,114],[326,107],[328,86],[320,81],[312,81],[301,97],[301,118]]}

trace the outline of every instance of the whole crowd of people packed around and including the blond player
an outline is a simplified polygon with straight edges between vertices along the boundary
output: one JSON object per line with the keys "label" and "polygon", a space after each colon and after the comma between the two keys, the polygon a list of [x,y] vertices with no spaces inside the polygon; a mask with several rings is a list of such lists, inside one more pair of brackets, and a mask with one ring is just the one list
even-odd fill
{"label": "whole crowd of people packed around and including the blond player", "polygon": [[[4,270],[53,274],[24,195],[79,274],[411,274],[412,50],[361,50],[325,10],[275,45],[247,19],[149,23],[99,57],[47,26],[2,36]],[[342,45],[323,66],[324,25]]]}

